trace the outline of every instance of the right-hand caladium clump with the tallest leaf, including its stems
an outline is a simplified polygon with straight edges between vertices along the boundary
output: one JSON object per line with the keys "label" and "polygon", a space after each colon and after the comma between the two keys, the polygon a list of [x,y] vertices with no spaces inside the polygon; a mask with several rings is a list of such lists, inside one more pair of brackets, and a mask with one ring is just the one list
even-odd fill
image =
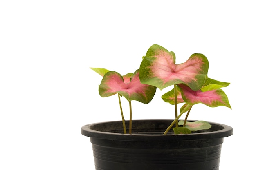
{"label": "right-hand caladium clump with the tallest leaf, including its stems", "polygon": [[[173,90],[162,95],[165,102],[175,105],[175,120],[166,129],[164,134],[173,128],[175,134],[187,134],[191,131],[211,128],[205,121],[188,122],[187,116],[193,105],[202,103],[210,107],[227,106],[231,108],[227,95],[220,88],[229,83],[220,82],[207,77],[209,62],[203,54],[192,54],[182,64],[175,64],[175,54],[154,44],[151,46],[139,68],[141,83],[156,86],[160,90],[173,85]],[[177,113],[177,104],[185,103],[180,114]],[[187,113],[183,122],[178,119]],[[179,125],[182,125],[179,127]]]}

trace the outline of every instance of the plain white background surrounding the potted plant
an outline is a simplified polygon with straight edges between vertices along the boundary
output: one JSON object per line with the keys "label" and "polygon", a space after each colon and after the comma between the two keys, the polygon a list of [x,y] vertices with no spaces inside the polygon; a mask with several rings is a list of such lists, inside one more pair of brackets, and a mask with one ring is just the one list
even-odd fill
{"label": "plain white background surrounding the potted plant", "polygon": [[[255,16],[248,0],[0,1],[0,169],[93,170],[81,127],[121,116],[89,67],[134,72],[153,44],[173,51],[176,64],[203,53],[209,77],[231,83],[223,90],[232,110],[198,104],[189,118],[234,128],[220,170],[252,169]],[[150,104],[132,102],[133,119],[173,119],[160,98],[170,89]]]}

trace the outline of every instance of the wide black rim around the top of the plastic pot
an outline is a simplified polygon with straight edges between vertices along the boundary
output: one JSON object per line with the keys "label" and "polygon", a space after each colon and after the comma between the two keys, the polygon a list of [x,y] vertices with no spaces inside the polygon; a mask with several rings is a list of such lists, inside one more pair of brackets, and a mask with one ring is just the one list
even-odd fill
{"label": "wide black rim around the top of the plastic pot", "polygon": [[[132,120],[132,124],[136,124],[137,122],[171,122],[172,119],[144,119],[144,120]],[[194,120],[188,120],[194,121]],[[105,122],[98,122],[92,123],[82,126],[81,134],[87,137],[92,138],[100,138],[100,139],[108,139],[108,140],[121,140],[121,141],[173,141],[173,140],[195,140],[195,139],[215,139],[215,138],[223,138],[233,135],[233,128],[231,126],[225,124],[219,124],[215,122],[209,122],[212,127],[217,128],[218,130],[209,131],[209,132],[199,132],[199,133],[191,133],[191,134],[124,134],[124,133],[117,133],[117,132],[103,132],[99,130],[93,130],[95,126],[99,126],[101,124],[116,124],[122,121],[105,121]],[[128,121],[126,121],[127,123]],[[164,131],[163,131],[164,133]]]}

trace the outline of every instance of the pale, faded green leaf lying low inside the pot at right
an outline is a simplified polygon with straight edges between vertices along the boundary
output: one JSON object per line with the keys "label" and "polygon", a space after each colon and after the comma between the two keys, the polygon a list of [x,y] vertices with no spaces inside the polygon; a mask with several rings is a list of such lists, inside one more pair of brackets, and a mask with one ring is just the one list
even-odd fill
{"label": "pale, faded green leaf lying low inside the pot at right", "polygon": [[[179,125],[184,124],[184,120],[179,121]],[[198,131],[198,130],[207,130],[211,128],[211,124],[209,124],[207,121],[193,121],[193,122],[186,122],[185,128],[188,128],[192,132]]]}

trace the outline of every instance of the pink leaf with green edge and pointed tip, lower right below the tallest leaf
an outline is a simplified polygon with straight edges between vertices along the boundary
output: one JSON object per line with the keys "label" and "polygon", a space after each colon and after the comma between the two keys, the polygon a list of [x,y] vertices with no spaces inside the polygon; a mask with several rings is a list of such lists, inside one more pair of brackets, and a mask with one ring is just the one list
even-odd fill
{"label": "pink leaf with green edge and pointed tip, lower right below the tallest leaf", "polygon": [[182,99],[190,105],[202,103],[210,107],[227,106],[231,108],[227,95],[220,88],[211,91],[193,91],[185,84],[177,84]]}

